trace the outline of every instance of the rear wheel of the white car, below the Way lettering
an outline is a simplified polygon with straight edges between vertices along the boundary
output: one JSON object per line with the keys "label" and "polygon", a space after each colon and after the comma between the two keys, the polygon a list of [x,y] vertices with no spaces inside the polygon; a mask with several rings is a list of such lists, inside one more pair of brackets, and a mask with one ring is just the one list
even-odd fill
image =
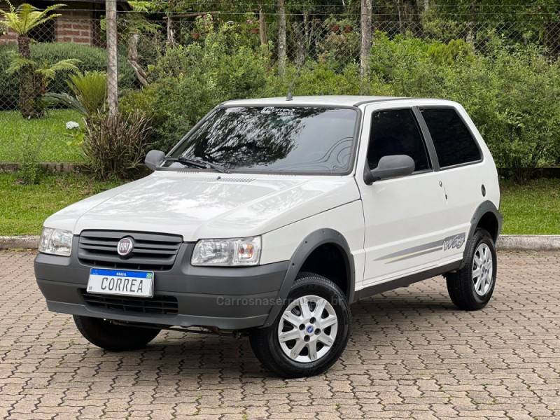
{"label": "rear wheel of the white car, below the Way lettering", "polygon": [[[451,302],[459,309],[474,311],[485,307],[492,297],[496,286],[498,258],[493,239],[484,229],[477,228],[466,246],[463,267],[456,272],[447,273],[445,277]],[[491,261],[484,259],[485,252]],[[478,265],[479,261],[482,261],[482,267]],[[477,269],[479,276],[475,275]]]}

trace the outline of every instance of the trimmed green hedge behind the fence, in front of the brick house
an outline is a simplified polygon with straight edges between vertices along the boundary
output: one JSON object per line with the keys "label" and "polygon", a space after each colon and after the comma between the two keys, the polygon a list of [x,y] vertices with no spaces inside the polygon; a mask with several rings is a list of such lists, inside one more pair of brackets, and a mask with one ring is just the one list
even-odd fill
{"label": "trimmed green hedge behind the fence, in front of the brick house", "polygon": [[[14,108],[18,102],[18,80],[6,76],[6,69],[10,65],[10,52],[15,45],[0,45],[0,109]],[[104,48],[91,47],[76,43],[33,43],[31,44],[31,59],[39,64],[55,64],[62,59],[75,58],[80,60],[78,69],[85,71],[106,71],[107,52]],[[137,86],[134,70],[128,64],[124,55],[118,58],[119,87],[123,89]],[[59,73],[50,83],[49,91],[55,93],[70,93],[66,84],[67,74]],[[3,108],[1,108],[3,106]]]}

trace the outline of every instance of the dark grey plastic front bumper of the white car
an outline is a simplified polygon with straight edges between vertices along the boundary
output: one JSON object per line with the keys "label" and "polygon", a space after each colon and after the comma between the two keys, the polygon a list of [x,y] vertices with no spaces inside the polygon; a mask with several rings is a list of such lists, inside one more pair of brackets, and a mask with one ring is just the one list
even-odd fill
{"label": "dark grey plastic front bumper of the white car", "polygon": [[278,293],[288,261],[255,267],[194,267],[193,244],[181,244],[172,269],[155,271],[154,296],[172,296],[177,314],[146,314],[87,304],[90,265],[78,260],[76,242],[70,257],[39,253],[35,276],[50,311],[118,321],[158,325],[201,325],[224,330],[253,328],[265,323],[279,304]]}

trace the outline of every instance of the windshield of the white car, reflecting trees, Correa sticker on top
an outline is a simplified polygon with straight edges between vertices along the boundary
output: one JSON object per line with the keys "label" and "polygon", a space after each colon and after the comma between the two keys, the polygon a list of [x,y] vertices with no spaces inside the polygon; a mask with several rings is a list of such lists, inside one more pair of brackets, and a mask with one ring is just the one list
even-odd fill
{"label": "windshield of the white car, reflecting trees, Correa sticker on top", "polygon": [[[236,106],[211,113],[171,154],[233,171],[349,171],[355,109]],[[165,167],[181,167],[167,162]]]}

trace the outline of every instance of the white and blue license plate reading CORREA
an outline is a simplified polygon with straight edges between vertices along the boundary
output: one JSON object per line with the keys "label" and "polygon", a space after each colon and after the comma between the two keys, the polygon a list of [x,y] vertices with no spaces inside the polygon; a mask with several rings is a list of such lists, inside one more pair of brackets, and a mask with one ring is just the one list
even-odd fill
{"label": "white and blue license plate reading CORREA", "polygon": [[153,272],[90,269],[87,292],[103,295],[153,297]]}

